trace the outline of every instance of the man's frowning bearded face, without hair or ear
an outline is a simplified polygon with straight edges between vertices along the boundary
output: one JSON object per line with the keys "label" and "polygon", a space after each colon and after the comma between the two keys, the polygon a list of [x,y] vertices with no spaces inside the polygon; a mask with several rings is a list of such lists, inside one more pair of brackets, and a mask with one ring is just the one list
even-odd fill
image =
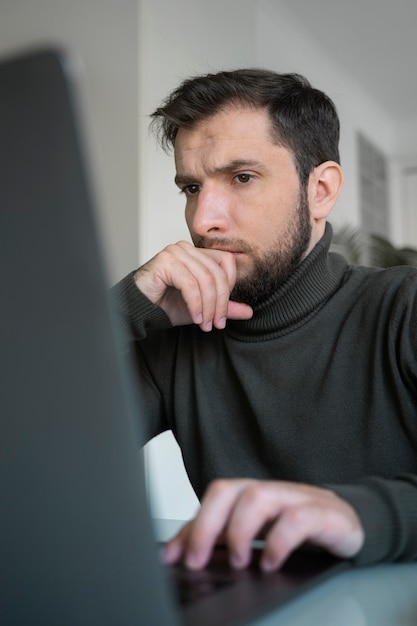
{"label": "man's frowning bearded face, without hair or ear", "polygon": [[234,254],[234,300],[265,300],[310,251],[312,228],[292,154],[273,142],[267,112],[229,106],[180,129],[175,163],[194,245]]}

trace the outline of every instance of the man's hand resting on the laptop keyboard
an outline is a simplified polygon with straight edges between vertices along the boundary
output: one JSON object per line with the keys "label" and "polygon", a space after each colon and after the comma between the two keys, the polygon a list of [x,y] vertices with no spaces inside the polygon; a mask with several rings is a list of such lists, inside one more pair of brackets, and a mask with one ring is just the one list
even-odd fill
{"label": "man's hand resting on the laptop keyboard", "polygon": [[264,571],[279,568],[304,542],[351,558],[364,541],[356,512],[330,490],[280,481],[217,480],[196,518],[166,544],[164,560],[182,559],[190,569],[201,569],[216,543],[222,543],[232,567],[241,569],[250,562],[252,540],[260,536],[265,539]]}

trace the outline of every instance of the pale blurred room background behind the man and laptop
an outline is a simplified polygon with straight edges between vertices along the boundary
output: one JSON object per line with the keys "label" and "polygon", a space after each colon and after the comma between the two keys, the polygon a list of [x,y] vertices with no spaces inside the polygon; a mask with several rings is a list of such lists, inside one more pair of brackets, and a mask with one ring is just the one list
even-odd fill
{"label": "pale blurred room background behind the man and laptop", "polygon": [[[305,74],[334,100],[345,186],[331,221],[342,251],[369,234],[417,248],[416,21],[415,0],[2,0],[0,54],[58,43],[81,59],[114,283],[188,238],[173,160],[149,135],[149,114],[182,79],[243,66]],[[190,517],[197,501],[172,436],[146,458],[154,515]]]}

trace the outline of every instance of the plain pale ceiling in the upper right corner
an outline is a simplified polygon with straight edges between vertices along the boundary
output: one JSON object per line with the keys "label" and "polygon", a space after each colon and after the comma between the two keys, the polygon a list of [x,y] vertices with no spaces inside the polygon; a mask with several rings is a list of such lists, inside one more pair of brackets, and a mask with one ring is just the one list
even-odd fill
{"label": "plain pale ceiling in the upper right corner", "polygon": [[281,0],[397,120],[417,117],[417,0]]}

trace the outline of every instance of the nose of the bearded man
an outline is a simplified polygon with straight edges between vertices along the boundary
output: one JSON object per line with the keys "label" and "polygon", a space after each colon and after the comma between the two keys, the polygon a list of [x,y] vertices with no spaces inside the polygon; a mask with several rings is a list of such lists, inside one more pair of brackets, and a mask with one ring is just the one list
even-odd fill
{"label": "nose of the bearded man", "polygon": [[190,203],[187,223],[192,233],[205,237],[210,232],[225,232],[229,225],[229,200],[225,193],[201,189]]}

